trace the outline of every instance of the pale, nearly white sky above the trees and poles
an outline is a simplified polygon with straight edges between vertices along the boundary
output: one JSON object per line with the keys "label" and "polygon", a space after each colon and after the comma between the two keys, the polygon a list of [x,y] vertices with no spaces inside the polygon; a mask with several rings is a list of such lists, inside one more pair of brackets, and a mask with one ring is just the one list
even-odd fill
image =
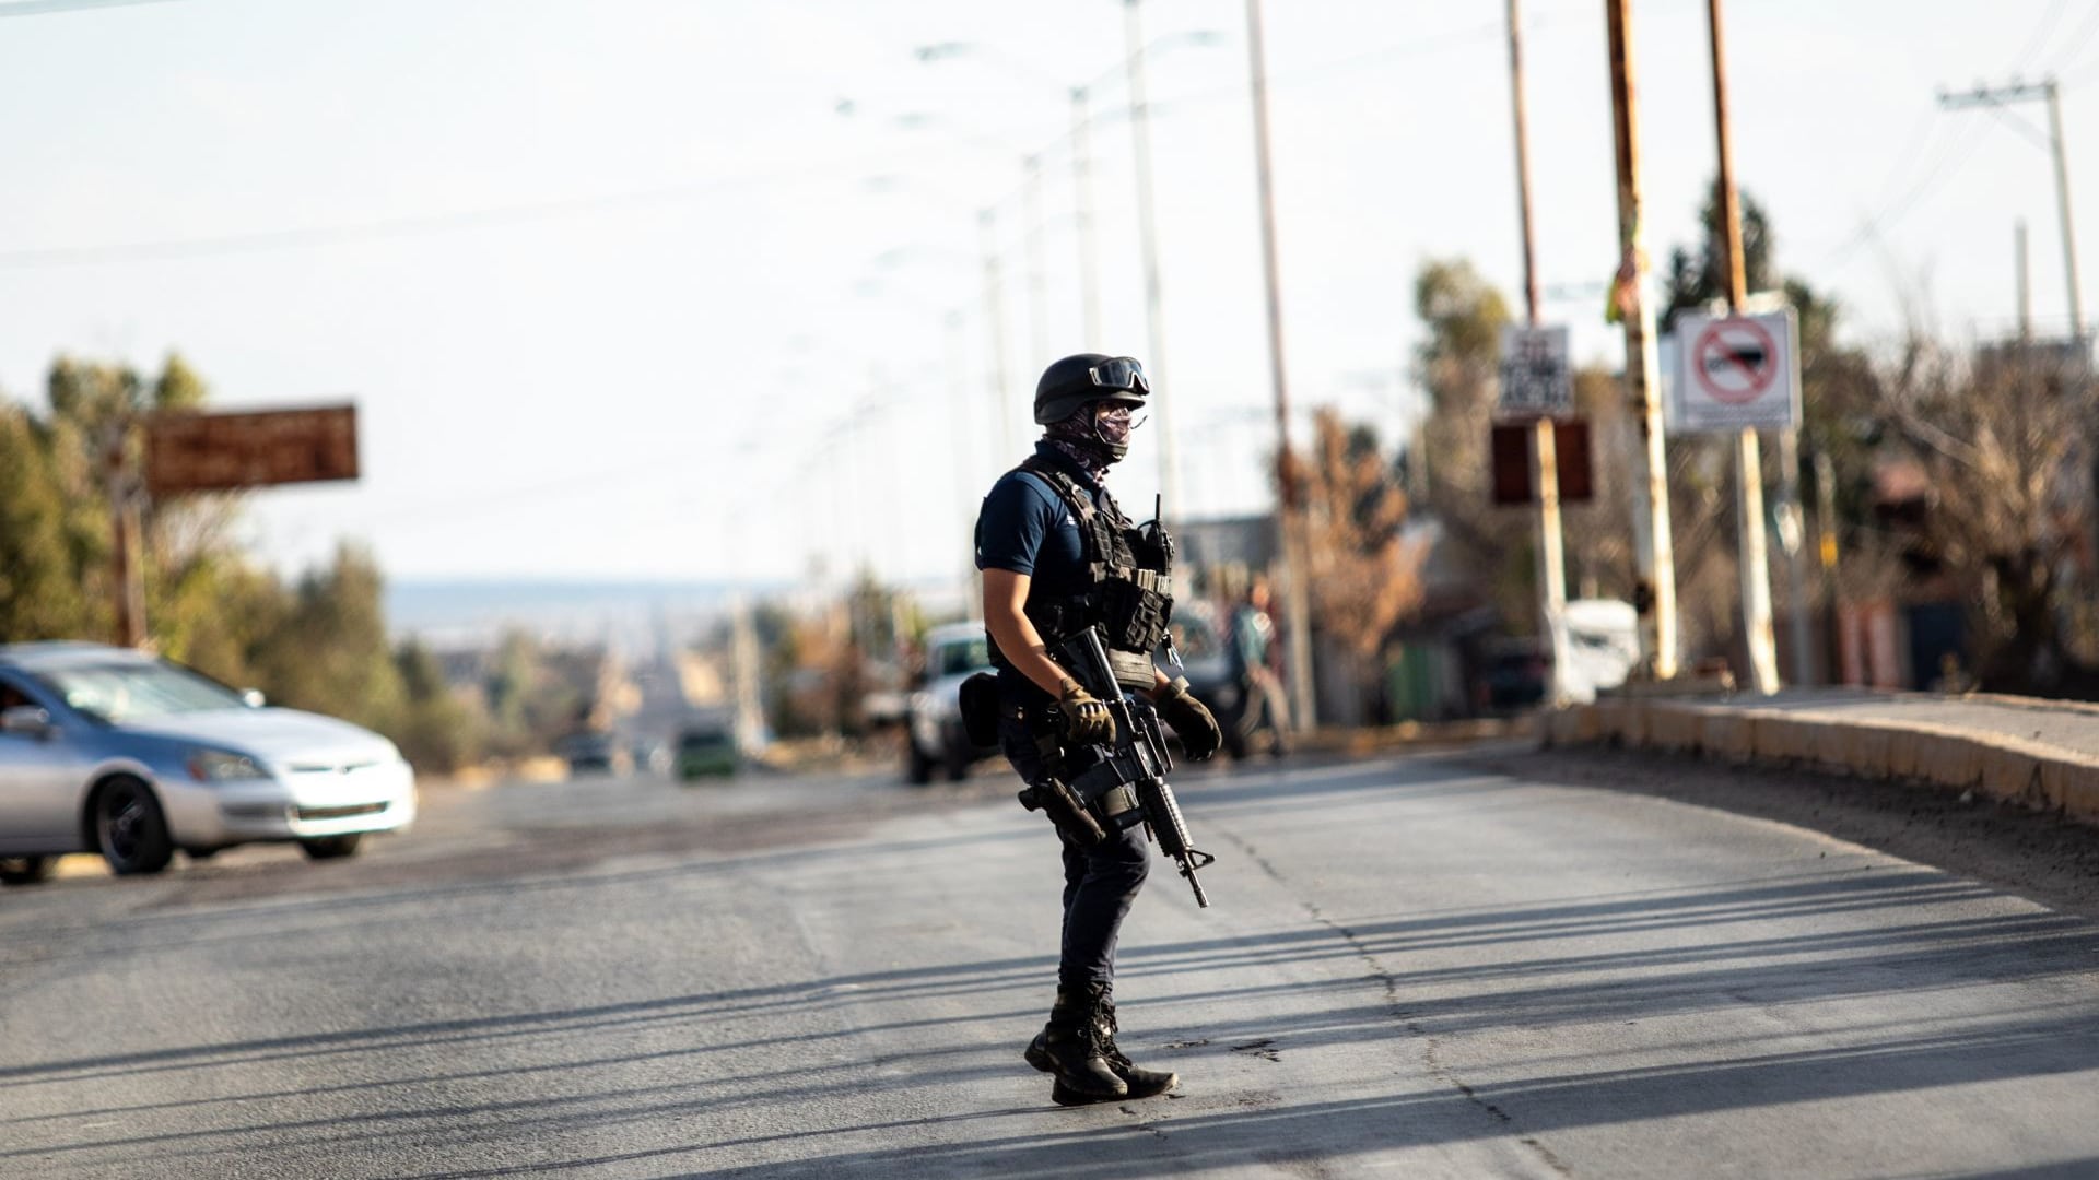
{"label": "pale, nearly white sky above the trees and poles", "polygon": [[[1541,281],[1581,288],[1547,317],[1614,359],[1604,4],[1524,15]],[[1713,172],[1704,4],[1633,15],[1660,260]],[[220,407],[355,399],[361,483],[250,500],[281,569],[355,538],[395,577],[787,577],[819,552],[959,571],[1035,374],[1073,351],[1154,370],[1186,512],[1257,510],[1274,426],[1245,6],[1142,19],[1171,42],[1150,61],[1163,357],[1119,0],[0,0],[0,388],[40,397],[61,351],[178,349]],[[1513,298],[1501,21],[1497,0],[1268,0],[1301,409],[1404,426],[1421,260],[1469,256]],[[1734,0],[1727,21],[1738,178],[1780,267],[1832,290],[1860,340],[1906,317],[2007,330],[2017,218],[2036,317],[2065,323],[2044,107],[1948,113],[1933,92],[2061,76],[2099,241],[2099,0]],[[1222,36],[1178,36],[1199,29]],[[970,48],[921,63],[936,42]],[[1066,88],[1102,78],[1106,332],[1083,340]],[[2095,271],[2086,246],[2086,315]],[[1159,489],[1161,422],[1117,470],[1131,508]]]}

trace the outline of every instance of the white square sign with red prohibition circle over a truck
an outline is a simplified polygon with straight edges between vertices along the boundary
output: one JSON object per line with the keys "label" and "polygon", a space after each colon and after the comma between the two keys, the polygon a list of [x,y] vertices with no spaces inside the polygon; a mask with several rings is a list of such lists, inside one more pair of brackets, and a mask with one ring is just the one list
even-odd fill
{"label": "white square sign with red prohibition circle over a truck", "polygon": [[1801,420],[1793,311],[1677,317],[1671,433],[1788,430]]}

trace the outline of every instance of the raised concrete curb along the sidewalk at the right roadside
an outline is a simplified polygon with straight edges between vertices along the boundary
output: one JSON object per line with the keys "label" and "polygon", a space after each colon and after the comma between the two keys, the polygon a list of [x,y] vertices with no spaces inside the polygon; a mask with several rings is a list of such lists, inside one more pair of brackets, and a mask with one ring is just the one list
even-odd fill
{"label": "raised concrete curb along the sidewalk at the right roadside", "polygon": [[[1992,699],[2053,708],[2055,701]],[[2002,733],[1933,722],[1860,720],[1755,699],[1604,699],[1551,712],[1545,747],[1616,745],[1725,762],[1891,779],[2057,810],[2099,825],[2099,758]]]}

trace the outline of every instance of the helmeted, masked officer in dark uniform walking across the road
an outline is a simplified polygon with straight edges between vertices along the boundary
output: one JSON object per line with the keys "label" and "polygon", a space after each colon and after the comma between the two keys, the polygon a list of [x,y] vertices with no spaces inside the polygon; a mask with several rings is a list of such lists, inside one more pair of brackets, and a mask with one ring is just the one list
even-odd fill
{"label": "helmeted, masked officer in dark uniform walking across the road", "polygon": [[[1043,437],[993,485],[976,521],[984,573],[984,628],[999,666],[999,745],[1043,806],[1064,852],[1064,932],[1056,1004],[1026,1050],[1056,1075],[1066,1107],[1152,1098],[1180,1086],[1169,1071],[1133,1065],[1115,1044],[1115,939],[1150,869],[1142,825],[1096,823],[1058,781],[1068,747],[1115,741],[1106,701],[1058,661],[1062,640],[1100,628],[1115,678],[1146,693],[1190,758],[1217,752],[1217,720],[1152,663],[1173,609],[1173,542],[1159,521],[1136,527],[1102,485],[1129,454],[1133,414],[1150,397],[1129,357],[1081,353],[1050,365],[1035,386]],[[1024,794],[1024,800],[1029,796]],[[1035,806],[1035,804],[1031,804]]]}

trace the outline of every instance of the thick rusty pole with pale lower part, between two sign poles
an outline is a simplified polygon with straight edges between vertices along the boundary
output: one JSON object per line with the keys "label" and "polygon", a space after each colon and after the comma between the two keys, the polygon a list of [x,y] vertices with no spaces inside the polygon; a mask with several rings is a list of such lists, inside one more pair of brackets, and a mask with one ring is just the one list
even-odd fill
{"label": "thick rusty pole with pale lower part, between two sign poles", "polygon": [[1654,307],[1648,302],[1648,227],[1639,195],[1639,111],[1633,107],[1633,27],[1629,0],[1604,0],[1610,34],[1610,109],[1618,155],[1618,283],[1625,321],[1625,401],[1639,430],[1633,464],[1633,556],[1639,582],[1639,647],[1656,680],[1677,674],[1677,559],[1669,538],[1669,458],[1662,445],[1660,374],[1654,357]]}

